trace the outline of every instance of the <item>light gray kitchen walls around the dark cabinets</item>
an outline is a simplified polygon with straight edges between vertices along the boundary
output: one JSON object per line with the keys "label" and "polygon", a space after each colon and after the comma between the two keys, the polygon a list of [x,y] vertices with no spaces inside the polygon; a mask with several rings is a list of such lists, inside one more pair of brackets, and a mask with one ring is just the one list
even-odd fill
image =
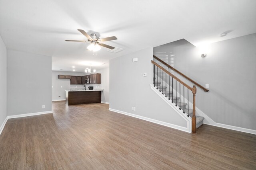
{"label": "light gray kitchen walls around the dark cabinets", "polygon": [[[97,73],[101,74],[101,84],[88,84],[88,86],[94,86],[94,88],[103,88],[104,91],[101,95],[102,102],[109,102],[109,67],[96,70]],[[65,72],[65,71],[52,71],[52,100],[64,100],[66,98],[65,90],[82,89],[82,84],[70,84],[69,79],[58,79],[58,75],[72,75],[72,76],[84,76],[85,73],[81,72]],[[62,88],[61,88],[62,86]],[[59,97],[60,96],[60,97]]]}

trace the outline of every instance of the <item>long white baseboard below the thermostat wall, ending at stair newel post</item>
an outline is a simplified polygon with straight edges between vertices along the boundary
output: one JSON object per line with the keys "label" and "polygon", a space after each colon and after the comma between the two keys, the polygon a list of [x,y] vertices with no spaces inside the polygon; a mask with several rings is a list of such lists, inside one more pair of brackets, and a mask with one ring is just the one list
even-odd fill
{"label": "long white baseboard below the thermostat wall, ending at stair newel post", "polygon": [[190,129],[188,129],[187,127],[182,127],[182,126],[178,126],[178,125],[173,125],[171,123],[166,123],[166,122],[163,122],[163,121],[159,121],[159,120],[155,120],[155,119],[151,119],[151,118],[148,118],[148,117],[143,117],[143,116],[140,116],[140,115],[134,115],[132,113],[127,113],[125,111],[120,111],[120,110],[116,110],[116,109],[108,109],[110,111],[114,111],[116,113],[121,113],[121,114],[124,114],[124,115],[128,115],[128,116],[132,116],[132,117],[136,117],[138,119],[142,119],[142,120],[145,120],[145,121],[150,121],[152,123],[156,123],[156,124],[159,124],[159,125],[164,125],[164,126],[167,126],[167,127],[171,127],[171,128],[174,128],[174,129],[178,129],[180,131],[184,131],[184,132],[188,132],[188,133],[191,133]]}

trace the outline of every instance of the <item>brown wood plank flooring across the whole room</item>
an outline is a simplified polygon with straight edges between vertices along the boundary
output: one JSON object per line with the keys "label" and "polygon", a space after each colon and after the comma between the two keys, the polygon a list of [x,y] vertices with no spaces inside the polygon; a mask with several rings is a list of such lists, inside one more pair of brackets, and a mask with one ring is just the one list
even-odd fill
{"label": "brown wood plank flooring across the whole room", "polygon": [[256,169],[256,135],[202,125],[197,134],[112,111],[107,104],[66,106],[8,119],[1,170]]}

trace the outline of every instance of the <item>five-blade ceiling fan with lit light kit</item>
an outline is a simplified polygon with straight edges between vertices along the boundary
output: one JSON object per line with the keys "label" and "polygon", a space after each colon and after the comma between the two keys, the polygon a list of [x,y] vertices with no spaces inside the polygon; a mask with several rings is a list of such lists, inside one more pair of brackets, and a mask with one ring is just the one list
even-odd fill
{"label": "five-blade ceiling fan with lit light kit", "polygon": [[116,40],[117,38],[115,36],[113,37],[106,37],[106,38],[99,38],[97,37],[97,35],[95,33],[92,33],[91,35],[88,35],[84,30],[82,29],[78,29],[78,31],[80,31],[80,33],[82,33],[84,36],[86,36],[86,38],[88,39],[88,41],[79,41],[79,40],[65,40],[65,41],[74,41],[74,42],[86,42],[86,43],[91,43],[87,49],[93,52],[96,52],[98,50],[100,50],[100,46],[102,47],[106,47],[108,49],[114,49],[115,47],[112,47],[110,45],[106,45],[103,44],[101,42],[104,41],[111,41],[111,40]]}

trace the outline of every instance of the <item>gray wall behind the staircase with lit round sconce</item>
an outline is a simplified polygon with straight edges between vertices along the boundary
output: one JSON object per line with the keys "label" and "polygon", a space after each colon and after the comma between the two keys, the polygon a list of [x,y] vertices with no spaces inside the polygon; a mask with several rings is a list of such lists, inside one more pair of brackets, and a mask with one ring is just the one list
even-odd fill
{"label": "gray wall behind the staircase with lit round sconce", "polygon": [[204,58],[199,47],[184,42],[154,48],[154,54],[159,52],[172,52],[174,68],[203,86],[209,84],[210,92],[198,88],[196,94],[196,106],[208,117],[256,130],[256,33],[212,43]]}

